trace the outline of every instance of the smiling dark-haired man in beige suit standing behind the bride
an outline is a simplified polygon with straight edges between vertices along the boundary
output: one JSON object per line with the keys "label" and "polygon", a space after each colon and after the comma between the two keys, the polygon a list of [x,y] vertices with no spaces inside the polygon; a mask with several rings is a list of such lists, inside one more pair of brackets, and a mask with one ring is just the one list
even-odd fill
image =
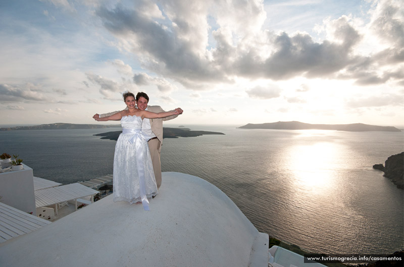
{"label": "smiling dark-haired man in beige suit standing behind the bride", "polygon": [[[147,106],[148,96],[146,93],[139,92],[136,95],[136,103],[137,108],[140,110],[147,110],[150,112],[165,112],[161,106]],[[126,108],[127,109],[127,108]],[[182,109],[176,108],[179,110],[180,114],[182,114]],[[93,118],[103,118],[107,116],[111,116],[119,111],[114,111],[105,114],[95,114],[92,116]],[[142,123],[142,131],[146,133],[148,136],[151,136],[151,139],[147,142],[148,148],[150,150],[151,162],[153,162],[153,170],[156,176],[157,188],[160,188],[161,185],[161,147],[163,144],[163,120],[169,120],[176,118],[178,115],[172,115],[165,118],[157,118],[157,119],[143,119]]]}

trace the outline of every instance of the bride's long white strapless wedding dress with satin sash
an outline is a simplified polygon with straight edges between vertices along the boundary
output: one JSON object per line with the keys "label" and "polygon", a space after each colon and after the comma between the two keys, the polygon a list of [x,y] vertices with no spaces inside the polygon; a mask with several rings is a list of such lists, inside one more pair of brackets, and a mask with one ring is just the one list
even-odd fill
{"label": "bride's long white strapless wedding dress with satin sash", "polygon": [[150,137],[141,131],[141,117],[124,116],[121,125],[114,155],[114,202],[142,202],[148,211],[147,197],[158,193],[147,145]]}

